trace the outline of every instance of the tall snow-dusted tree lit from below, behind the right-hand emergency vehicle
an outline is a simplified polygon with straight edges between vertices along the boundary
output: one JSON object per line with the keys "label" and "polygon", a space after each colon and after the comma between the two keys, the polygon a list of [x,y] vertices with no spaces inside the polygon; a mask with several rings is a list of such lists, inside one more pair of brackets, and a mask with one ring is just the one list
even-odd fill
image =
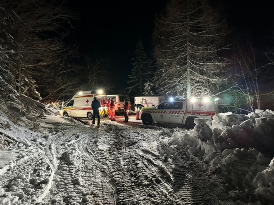
{"label": "tall snow-dusted tree lit from below, behind the right-hand emergency vehicle", "polygon": [[190,98],[221,89],[229,79],[217,55],[224,35],[225,23],[207,0],[171,0],[155,21],[158,91]]}

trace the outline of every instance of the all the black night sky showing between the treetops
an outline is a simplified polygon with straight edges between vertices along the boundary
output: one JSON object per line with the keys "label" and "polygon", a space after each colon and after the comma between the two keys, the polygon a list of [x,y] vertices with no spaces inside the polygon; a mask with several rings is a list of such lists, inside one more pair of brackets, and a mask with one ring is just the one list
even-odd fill
{"label": "all the black night sky showing between the treetops", "polygon": [[[123,84],[132,69],[132,59],[140,37],[148,55],[152,52],[153,22],[168,0],[72,1],[80,14],[75,25],[75,41],[82,54],[100,58],[106,70],[115,76],[114,83]],[[81,3],[82,2],[82,3]],[[230,38],[251,38],[264,44],[273,32],[272,0],[212,0],[222,6],[227,16]]]}

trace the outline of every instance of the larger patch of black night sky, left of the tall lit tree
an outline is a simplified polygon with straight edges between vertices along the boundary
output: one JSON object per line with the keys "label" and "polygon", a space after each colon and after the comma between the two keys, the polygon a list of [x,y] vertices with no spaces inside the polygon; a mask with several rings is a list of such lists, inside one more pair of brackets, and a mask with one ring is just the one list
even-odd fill
{"label": "larger patch of black night sky, left of the tall lit tree", "polygon": [[148,55],[152,53],[155,15],[167,0],[92,1],[75,5],[81,21],[76,25],[76,41],[81,53],[101,59],[105,69],[115,76],[115,84],[126,88],[132,58],[140,37]]}

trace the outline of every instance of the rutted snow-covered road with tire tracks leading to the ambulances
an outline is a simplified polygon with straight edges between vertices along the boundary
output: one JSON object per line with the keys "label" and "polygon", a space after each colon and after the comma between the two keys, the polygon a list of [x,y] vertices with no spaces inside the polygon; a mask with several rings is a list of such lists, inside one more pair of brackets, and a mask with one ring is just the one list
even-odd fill
{"label": "rutted snow-covered road with tire tracks leading to the ambulances", "polygon": [[103,121],[16,143],[22,157],[1,170],[0,204],[234,204],[187,150],[173,154],[170,133]]}

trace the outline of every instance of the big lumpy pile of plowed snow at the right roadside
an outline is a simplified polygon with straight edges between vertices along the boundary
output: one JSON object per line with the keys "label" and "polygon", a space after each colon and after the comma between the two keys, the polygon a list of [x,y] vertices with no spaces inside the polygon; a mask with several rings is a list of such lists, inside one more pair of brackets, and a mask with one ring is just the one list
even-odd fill
{"label": "big lumpy pile of plowed snow at the right roadside", "polygon": [[[193,130],[177,131],[171,143],[188,149],[208,172],[215,173],[231,196],[274,201],[274,112],[220,113],[195,119]],[[177,153],[179,154],[179,153]]]}

